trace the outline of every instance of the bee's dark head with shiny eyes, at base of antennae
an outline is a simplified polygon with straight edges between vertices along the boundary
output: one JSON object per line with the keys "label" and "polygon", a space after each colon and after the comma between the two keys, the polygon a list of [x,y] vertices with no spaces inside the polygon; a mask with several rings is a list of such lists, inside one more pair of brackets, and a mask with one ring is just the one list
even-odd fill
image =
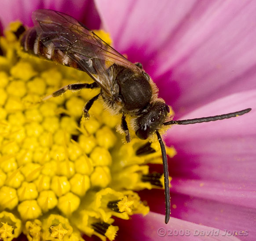
{"label": "bee's dark head with shiny eyes, at base of antennae", "polygon": [[136,119],[136,135],[146,140],[154,131],[159,129],[166,120],[170,108],[161,101],[150,104],[146,112]]}

